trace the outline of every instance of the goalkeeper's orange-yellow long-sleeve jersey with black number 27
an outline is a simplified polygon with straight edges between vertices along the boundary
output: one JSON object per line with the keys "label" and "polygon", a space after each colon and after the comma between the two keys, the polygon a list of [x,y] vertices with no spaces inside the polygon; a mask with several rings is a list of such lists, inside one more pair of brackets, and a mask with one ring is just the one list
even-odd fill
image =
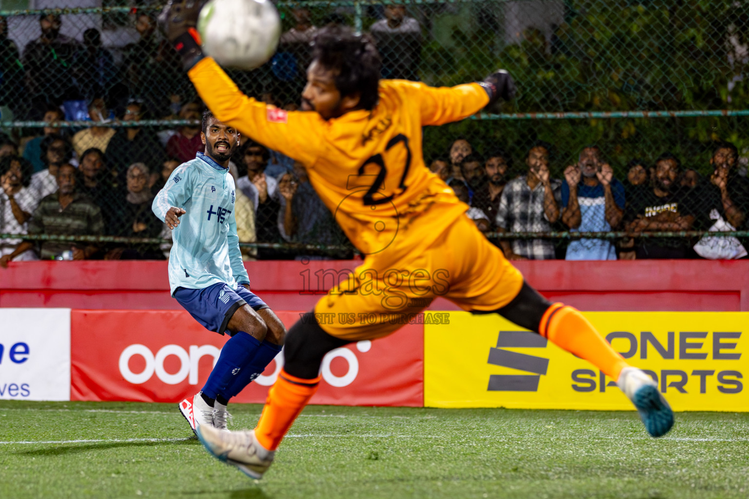
{"label": "goalkeeper's orange-yellow long-sleeve jersey with black number 27", "polygon": [[422,126],[475,114],[488,102],[480,85],[382,80],[372,111],[324,120],[247,97],[212,58],[188,74],[218,120],[305,165],[315,191],[364,254],[392,262],[419,251],[467,210],[425,167]]}

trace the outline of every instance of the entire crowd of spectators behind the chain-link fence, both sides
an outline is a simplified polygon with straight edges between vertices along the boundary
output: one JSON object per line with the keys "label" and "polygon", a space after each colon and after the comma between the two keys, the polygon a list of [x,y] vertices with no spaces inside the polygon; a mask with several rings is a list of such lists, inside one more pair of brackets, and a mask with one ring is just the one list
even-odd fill
{"label": "entire crowd of spectators behind the chain-link fence, both sides", "polygon": [[[294,26],[282,34],[269,67],[279,80],[298,83],[304,80],[309,42],[318,27],[308,7],[291,12]],[[402,5],[382,7],[381,16],[369,32],[383,58],[382,76],[418,79],[422,27]],[[330,17],[328,22],[341,19]],[[18,144],[0,135],[0,233],[11,235],[0,239],[0,266],[10,260],[169,257],[171,233],[151,212],[151,200],[178,165],[203,150],[201,130],[192,124],[156,129],[139,122],[200,118],[203,105],[188,90],[178,57],[148,13],[136,15],[139,38],[117,61],[103,48],[97,29],[85,30],[78,41],[60,33],[60,16],[40,16],[39,25],[40,37],[20,52],[0,17],[0,105],[49,124],[17,137]],[[13,93],[28,99],[10,99]],[[263,91],[259,98],[296,108],[276,97]],[[86,118],[123,126],[54,126]],[[37,130],[38,135],[33,133]],[[739,173],[733,144],[718,144],[710,165],[698,169],[682,168],[679,157],[665,152],[632,159],[620,170],[596,145],[583,147],[577,161],[562,168],[552,165],[553,150],[537,141],[524,158],[513,159],[499,148],[482,154],[470,138],[458,137],[428,168],[467,204],[467,215],[490,238],[526,233],[494,239],[510,260],[747,256],[743,238],[649,236],[747,228],[749,180]],[[321,254],[317,247],[351,248],[300,164],[242,137],[229,168],[237,186],[234,215],[240,242],[270,243],[243,247],[243,258],[314,258]],[[703,176],[698,170],[712,174]],[[626,171],[625,178],[617,179],[615,171]],[[621,231],[628,236],[561,243],[550,236],[555,231]],[[26,234],[111,237],[106,242],[61,242],[24,239]],[[323,254],[351,257],[352,251]]]}

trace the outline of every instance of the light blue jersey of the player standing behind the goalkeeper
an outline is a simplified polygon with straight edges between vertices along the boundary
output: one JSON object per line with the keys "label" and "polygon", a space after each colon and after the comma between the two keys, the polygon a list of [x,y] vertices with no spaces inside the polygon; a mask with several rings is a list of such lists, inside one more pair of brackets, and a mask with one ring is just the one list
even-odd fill
{"label": "light blue jersey of the player standing behind the goalkeeper", "polygon": [[169,208],[187,213],[172,231],[169,286],[201,290],[225,283],[236,290],[249,284],[234,220],[234,179],[228,168],[198,153],[178,166],[154,198],[151,209],[162,221]]}

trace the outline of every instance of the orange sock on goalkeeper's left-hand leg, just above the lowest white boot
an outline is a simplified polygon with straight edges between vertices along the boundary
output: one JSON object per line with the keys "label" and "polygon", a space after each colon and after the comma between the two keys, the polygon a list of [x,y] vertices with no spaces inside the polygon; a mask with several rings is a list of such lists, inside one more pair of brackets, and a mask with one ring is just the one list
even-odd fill
{"label": "orange sock on goalkeeper's left-hand leg, just above the lowest white boot", "polygon": [[294,420],[312,395],[318,391],[321,376],[302,379],[281,370],[279,378],[268,391],[263,413],[260,414],[255,438],[267,450],[276,450]]}

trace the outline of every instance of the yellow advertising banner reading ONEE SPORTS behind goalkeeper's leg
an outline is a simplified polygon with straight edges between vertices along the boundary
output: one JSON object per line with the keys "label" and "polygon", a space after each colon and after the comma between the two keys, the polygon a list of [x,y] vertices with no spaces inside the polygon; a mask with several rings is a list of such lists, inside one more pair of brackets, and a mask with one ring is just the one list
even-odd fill
{"label": "yellow advertising banner reading ONEE SPORTS behind goalkeeper's leg", "polygon": [[[749,312],[585,312],[676,411],[749,411]],[[631,410],[592,364],[500,316],[424,326],[424,405]]]}

